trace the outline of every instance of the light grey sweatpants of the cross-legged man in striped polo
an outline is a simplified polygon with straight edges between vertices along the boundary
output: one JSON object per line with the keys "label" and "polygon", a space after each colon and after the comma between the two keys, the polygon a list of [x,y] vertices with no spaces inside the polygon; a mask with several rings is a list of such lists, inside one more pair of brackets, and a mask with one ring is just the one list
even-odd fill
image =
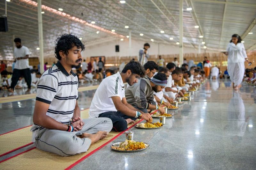
{"label": "light grey sweatpants of the cross-legged man in striped polo", "polygon": [[39,130],[34,144],[38,149],[56,153],[61,156],[75,155],[78,153],[87,152],[91,145],[91,139],[78,138],[76,135],[82,135],[84,132],[110,132],[113,126],[111,119],[107,117],[83,119],[83,122],[84,126],[82,130],[76,132],[67,132],[46,128]]}

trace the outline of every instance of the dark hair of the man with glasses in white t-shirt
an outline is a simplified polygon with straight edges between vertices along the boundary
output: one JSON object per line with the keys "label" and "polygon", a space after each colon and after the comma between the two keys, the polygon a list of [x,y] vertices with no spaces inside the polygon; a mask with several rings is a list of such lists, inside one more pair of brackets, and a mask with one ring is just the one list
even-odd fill
{"label": "dark hair of the man with glasses in white t-shirt", "polygon": [[126,73],[127,70],[131,70],[133,74],[138,74],[140,77],[144,77],[145,75],[145,70],[138,61],[130,60],[130,62],[124,66],[122,73]]}

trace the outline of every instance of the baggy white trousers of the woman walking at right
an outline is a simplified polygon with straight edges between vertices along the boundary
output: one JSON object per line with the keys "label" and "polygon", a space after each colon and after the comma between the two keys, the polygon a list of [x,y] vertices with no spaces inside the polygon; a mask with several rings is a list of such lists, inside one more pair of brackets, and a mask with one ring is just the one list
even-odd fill
{"label": "baggy white trousers of the woman walking at right", "polygon": [[240,85],[244,78],[244,62],[228,63],[228,74],[235,87]]}

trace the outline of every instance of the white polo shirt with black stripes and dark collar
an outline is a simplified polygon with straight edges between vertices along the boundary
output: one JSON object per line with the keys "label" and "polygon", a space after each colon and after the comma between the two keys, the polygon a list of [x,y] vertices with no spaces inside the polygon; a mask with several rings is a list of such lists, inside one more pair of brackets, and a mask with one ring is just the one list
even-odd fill
{"label": "white polo shirt with black stripes and dark collar", "polygon": [[44,72],[36,87],[36,100],[50,104],[46,115],[60,123],[69,123],[78,99],[76,74],[72,71],[69,74],[58,61]]}

